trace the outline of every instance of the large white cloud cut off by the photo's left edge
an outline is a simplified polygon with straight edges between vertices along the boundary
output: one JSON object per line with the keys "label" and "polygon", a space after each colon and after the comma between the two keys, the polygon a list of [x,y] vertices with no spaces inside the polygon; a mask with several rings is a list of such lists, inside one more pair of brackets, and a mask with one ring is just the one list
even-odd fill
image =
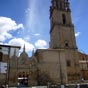
{"label": "large white cloud cut off by the photo's left edge", "polygon": [[9,31],[23,29],[23,24],[17,24],[14,20],[8,17],[0,17],[0,41],[12,38]]}

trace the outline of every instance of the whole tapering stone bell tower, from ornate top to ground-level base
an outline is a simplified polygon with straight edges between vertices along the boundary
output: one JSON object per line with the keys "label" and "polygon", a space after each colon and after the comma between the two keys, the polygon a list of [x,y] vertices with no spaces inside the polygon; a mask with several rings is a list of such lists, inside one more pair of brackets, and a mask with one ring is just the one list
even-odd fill
{"label": "whole tapering stone bell tower, from ornate top to ground-level base", "polygon": [[65,51],[68,81],[80,80],[77,46],[69,1],[52,0],[51,3],[50,49],[63,49]]}

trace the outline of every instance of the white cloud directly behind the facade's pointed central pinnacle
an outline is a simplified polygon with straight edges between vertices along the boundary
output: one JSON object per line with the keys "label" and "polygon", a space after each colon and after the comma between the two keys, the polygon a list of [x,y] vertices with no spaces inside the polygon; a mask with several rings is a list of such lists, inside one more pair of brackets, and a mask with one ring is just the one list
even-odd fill
{"label": "white cloud directly behind the facade's pointed central pinnacle", "polygon": [[25,44],[26,52],[32,51],[34,49],[34,46],[31,43],[23,40],[22,38],[14,38],[10,40],[8,44],[15,45],[15,46],[21,46],[21,51]]}

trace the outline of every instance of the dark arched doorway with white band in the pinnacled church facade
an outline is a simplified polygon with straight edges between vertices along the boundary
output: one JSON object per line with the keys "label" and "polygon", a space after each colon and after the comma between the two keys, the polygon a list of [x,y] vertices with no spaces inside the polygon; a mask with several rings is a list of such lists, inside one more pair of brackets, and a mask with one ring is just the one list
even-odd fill
{"label": "dark arched doorway with white band in the pinnacled church facade", "polygon": [[26,72],[20,72],[18,74],[18,86],[28,87],[28,74]]}

